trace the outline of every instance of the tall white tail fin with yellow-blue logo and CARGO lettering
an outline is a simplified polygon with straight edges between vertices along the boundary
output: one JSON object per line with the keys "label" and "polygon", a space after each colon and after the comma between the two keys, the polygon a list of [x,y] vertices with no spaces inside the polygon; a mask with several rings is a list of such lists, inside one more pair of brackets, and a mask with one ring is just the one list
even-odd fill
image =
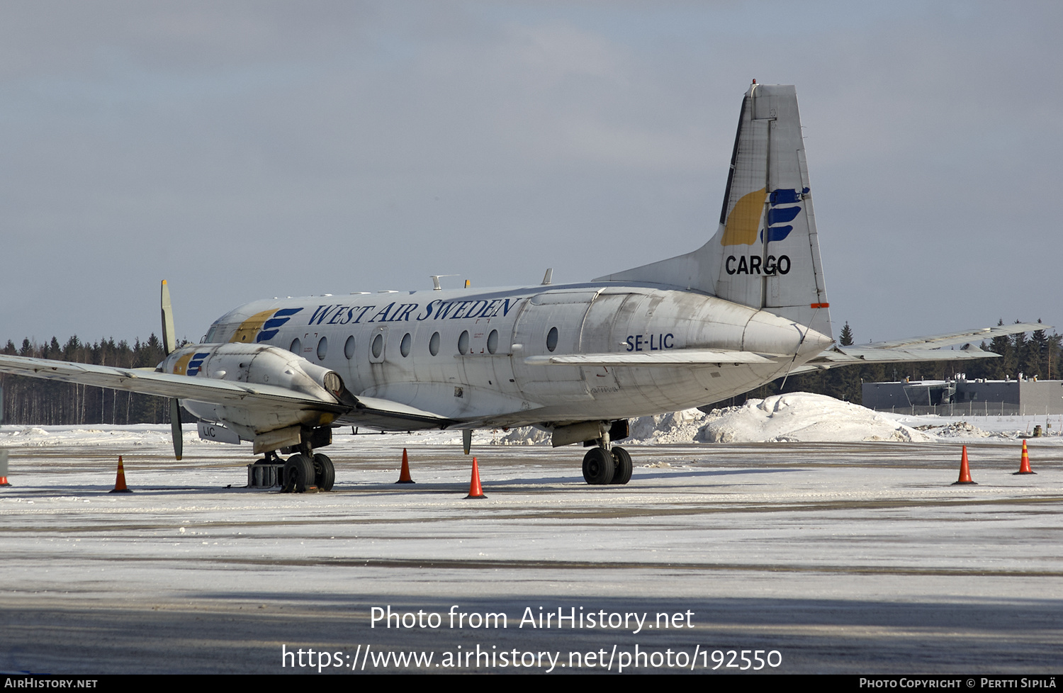
{"label": "tall white tail fin with yellow-blue logo and CARGO lettering", "polygon": [[705,246],[600,278],[697,289],[832,334],[794,87],[746,91],[720,225]]}

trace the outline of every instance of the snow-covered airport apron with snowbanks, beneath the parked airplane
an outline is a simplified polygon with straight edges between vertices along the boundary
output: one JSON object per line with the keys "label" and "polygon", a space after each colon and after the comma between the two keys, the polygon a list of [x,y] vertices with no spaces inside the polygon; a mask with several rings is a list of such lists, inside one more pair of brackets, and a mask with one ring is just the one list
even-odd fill
{"label": "snow-covered airport apron with snowbanks, beneath the parked airplane", "polygon": [[[1014,476],[1013,436],[1031,422],[971,420],[1007,434],[995,437],[866,417],[786,395],[641,420],[623,487],[584,484],[578,446],[494,445],[508,433],[483,432],[478,501],[465,498],[470,460],[453,434],[337,429],[336,490],[296,495],[240,488],[250,445],[195,432],[175,462],[165,426],[4,426],[0,669],[285,673],[282,646],[367,645],[435,663],[477,646],[562,653],[555,673],[570,653],[603,649],[617,671],[636,646],[776,650],[771,671],[789,673],[1063,669],[1059,439],[1030,439],[1037,474]],[[890,432],[901,424],[928,441],[900,442]],[[705,430],[775,442],[667,442]],[[790,442],[809,435],[827,440]],[[961,443],[977,486],[951,485]],[[403,447],[415,485],[394,484]],[[118,455],[131,494],[107,493]],[[374,626],[388,606],[442,622]],[[506,613],[508,626],[451,628],[455,606]],[[638,633],[519,626],[540,608],[684,618]],[[695,671],[712,670],[708,657]],[[396,669],[414,666],[366,671]]]}

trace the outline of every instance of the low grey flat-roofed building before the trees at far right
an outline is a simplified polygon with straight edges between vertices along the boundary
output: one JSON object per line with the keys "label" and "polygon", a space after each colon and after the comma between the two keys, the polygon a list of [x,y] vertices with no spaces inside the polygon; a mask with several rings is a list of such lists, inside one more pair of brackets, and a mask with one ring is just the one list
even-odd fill
{"label": "low grey flat-roofed building before the trees at far right", "polygon": [[864,383],[863,406],[878,411],[911,411],[941,416],[1008,416],[1063,413],[1063,381],[948,381]]}

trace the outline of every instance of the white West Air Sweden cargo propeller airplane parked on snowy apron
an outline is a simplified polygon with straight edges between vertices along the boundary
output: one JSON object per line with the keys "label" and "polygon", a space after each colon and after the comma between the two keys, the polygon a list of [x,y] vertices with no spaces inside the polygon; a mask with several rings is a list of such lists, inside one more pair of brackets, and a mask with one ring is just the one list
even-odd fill
{"label": "white West Air Sweden cargo propeller airplane parked on snowy apron", "polygon": [[[162,286],[167,356],[136,370],[0,355],[0,372],[170,398],[283,463],[301,491],[335,481],[316,451],[338,425],[379,430],[535,425],[555,446],[583,443],[584,478],[623,485],[614,444],[629,419],[718,402],[816,369],[996,354],[975,340],[1044,329],[1014,324],[860,346],[831,346],[796,90],[754,81],[715,234],[696,250],[576,284],[255,301],[179,346]],[[960,350],[941,346],[966,344]],[[180,404],[179,404],[180,403]],[[282,455],[291,455],[286,460]]]}

